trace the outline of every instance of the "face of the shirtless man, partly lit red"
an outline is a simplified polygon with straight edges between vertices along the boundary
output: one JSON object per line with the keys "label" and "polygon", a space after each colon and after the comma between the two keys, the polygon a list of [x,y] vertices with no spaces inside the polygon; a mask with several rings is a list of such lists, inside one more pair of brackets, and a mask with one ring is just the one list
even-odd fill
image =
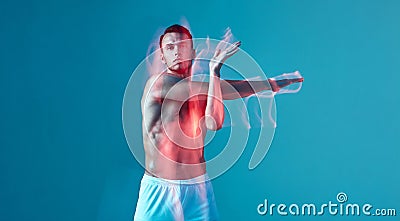
{"label": "face of the shirtless man, partly lit red", "polygon": [[192,40],[186,34],[172,32],[164,35],[161,45],[161,59],[168,69],[177,74],[190,74],[195,56]]}

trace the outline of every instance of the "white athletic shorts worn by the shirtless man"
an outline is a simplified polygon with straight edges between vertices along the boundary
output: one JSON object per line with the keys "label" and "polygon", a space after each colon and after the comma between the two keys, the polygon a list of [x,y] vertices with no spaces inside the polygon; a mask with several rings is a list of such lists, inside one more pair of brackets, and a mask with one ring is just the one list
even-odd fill
{"label": "white athletic shorts worn by the shirtless man", "polygon": [[135,221],[218,220],[214,191],[208,176],[167,180],[144,174]]}

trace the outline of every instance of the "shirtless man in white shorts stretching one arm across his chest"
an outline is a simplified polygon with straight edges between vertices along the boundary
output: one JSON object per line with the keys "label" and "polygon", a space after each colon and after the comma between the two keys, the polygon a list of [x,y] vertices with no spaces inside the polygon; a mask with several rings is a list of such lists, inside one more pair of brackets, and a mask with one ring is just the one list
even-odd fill
{"label": "shirtless man in white shorts stretching one arm across his chest", "polygon": [[303,79],[280,81],[221,81],[220,69],[240,42],[217,50],[209,63],[209,82],[191,81],[195,58],[192,35],[180,25],[160,36],[165,72],[146,83],[141,107],[145,174],[134,219],[218,220],[211,182],[206,173],[204,138],[224,121],[223,99],[263,90],[274,91]]}

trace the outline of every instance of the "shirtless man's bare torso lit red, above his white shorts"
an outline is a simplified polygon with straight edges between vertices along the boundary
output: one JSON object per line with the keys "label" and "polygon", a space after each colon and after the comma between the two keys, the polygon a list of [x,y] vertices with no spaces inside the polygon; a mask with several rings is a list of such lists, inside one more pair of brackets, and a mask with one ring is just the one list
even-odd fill
{"label": "shirtless man's bare torso lit red, above his white shorts", "polygon": [[206,101],[160,96],[181,79],[165,73],[157,80],[150,78],[141,102],[146,173],[165,179],[190,179],[206,172],[202,120]]}

